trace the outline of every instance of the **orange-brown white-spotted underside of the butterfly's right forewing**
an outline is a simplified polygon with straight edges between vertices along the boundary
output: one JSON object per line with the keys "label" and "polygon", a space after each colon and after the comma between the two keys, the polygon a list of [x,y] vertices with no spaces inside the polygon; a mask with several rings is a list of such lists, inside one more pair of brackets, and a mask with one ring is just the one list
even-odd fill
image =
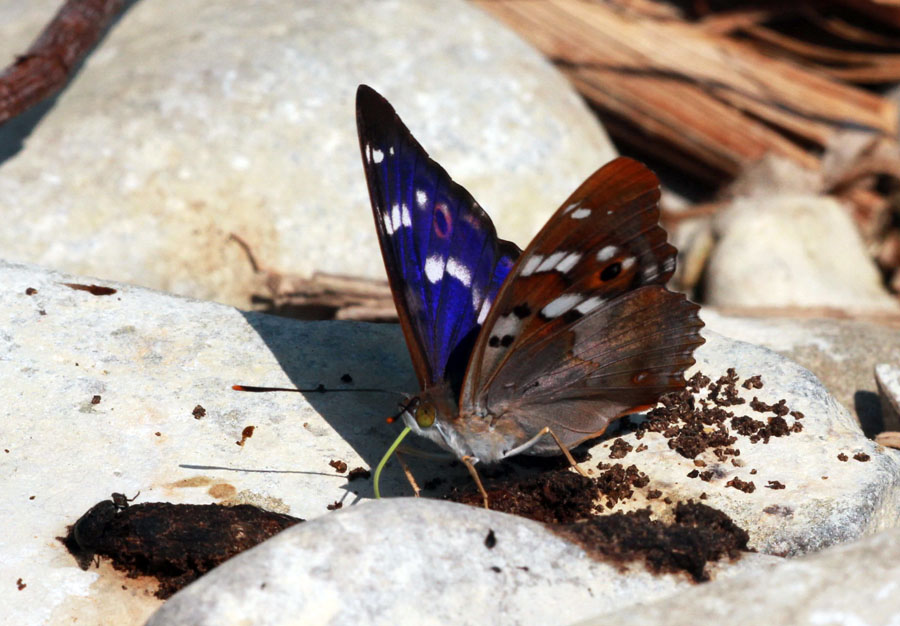
{"label": "orange-brown white-spotted underside of the butterfly's right forewing", "polygon": [[[477,403],[510,355],[569,326],[591,298],[609,301],[668,281],[676,250],[659,226],[659,193],[656,175],[628,158],[608,163],[575,190],[498,293],[473,351],[461,405]],[[560,306],[567,298],[568,309]]]}

